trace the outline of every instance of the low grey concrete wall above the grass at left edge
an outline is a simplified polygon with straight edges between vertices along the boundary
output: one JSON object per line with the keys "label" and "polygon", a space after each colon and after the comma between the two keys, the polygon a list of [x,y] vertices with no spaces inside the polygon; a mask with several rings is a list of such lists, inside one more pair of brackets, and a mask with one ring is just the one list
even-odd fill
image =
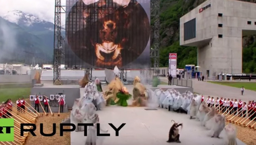
{"label": "low grey concrete wall above the grass at left edge", "polygon": [[30,75],[0,75],[0,83],[30,83]]}

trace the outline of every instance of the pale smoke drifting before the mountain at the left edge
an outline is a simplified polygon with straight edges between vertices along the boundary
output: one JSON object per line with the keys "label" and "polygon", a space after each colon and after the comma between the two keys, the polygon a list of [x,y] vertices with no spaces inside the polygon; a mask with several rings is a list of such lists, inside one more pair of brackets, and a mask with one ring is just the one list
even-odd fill
{"label": "pale smoke drifting before the mountain at the left edge", "polygon": [[0,17],[0,63],[15,58],[12,54],[16,48],[16,32]]}

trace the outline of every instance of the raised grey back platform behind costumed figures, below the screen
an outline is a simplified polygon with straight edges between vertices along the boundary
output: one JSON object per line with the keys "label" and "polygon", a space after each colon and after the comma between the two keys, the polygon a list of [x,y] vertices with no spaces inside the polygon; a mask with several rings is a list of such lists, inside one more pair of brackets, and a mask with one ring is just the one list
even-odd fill
{"label": "raised grey back platform behind costumed figures, below the screen", "polygon": [[[58,93],[63,93],[66,95],[66,104],[68,108],[73,107],[74,101],[76,98],[79,98],[84,95],[84,88],[79,87],[79,85],[53,85],[52,82],[43,81],[42,87],[33,87],[31,89],[31,95],[56,95]],[[133,85],[125,85],[131,95],[133,95]],[[152,87],[152,85],[146,85],[147,88],[155,89],[161,88],[164,91],[170,88],[174,88],[177,91],[184,93],[185,91],[193,92],[193,88],[190,87],[182,87],[178,85],[158,85],[158,87]],[[107,85],[102,85],[102,89],[105,91],[108,88]]]}

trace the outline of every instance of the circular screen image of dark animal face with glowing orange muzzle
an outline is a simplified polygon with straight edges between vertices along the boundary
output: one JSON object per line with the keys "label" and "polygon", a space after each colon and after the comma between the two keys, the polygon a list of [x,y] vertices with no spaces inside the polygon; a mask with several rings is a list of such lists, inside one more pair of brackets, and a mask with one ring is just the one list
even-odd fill
{"label": "circular screen image of dark animal face with glowing orange muzzle", "polygon": [[98,68],[133,62],[149,49],[149,35],[149,18],[135,0],[78,0],[66,17],[70,49]]}

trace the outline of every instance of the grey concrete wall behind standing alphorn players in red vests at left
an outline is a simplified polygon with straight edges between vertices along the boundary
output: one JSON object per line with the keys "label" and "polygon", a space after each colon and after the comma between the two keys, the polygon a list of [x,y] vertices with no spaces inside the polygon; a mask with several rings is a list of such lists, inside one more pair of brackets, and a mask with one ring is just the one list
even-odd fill
{"label": "grey concrete wall behind standing alphorn players in red vests at left", "polygon": [[58,93],[63,93],[66,95],[66,104],[68,107],[74,105],[75,99],[80,98],[80,88],[44,88],[44,87],[33,87],[31,89],[31,95],[55,95]]}

